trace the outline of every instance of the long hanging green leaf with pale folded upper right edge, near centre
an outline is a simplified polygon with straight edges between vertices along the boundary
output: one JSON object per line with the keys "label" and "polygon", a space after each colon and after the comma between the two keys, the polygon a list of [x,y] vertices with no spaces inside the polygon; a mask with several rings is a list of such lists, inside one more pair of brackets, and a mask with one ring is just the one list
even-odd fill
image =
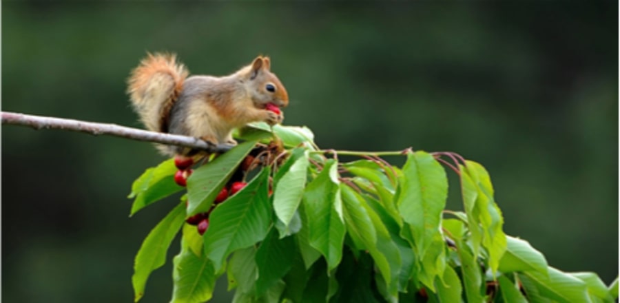
{"label": "long hanging green leaf with pale folded upper right edge, near centre", "polygon": [[342,258],[344,222],[339,184],[338,163],[330,159],[309,183],[303,197],[309,244],[324,255],[328,270],[337,267]]}

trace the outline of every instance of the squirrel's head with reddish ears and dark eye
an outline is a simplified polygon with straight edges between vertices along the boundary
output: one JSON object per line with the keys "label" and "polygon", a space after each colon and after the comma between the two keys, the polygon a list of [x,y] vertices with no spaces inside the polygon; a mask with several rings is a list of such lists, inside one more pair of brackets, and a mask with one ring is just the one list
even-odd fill
{"label": "squirrel's head with reddish ears and dark eye", "polygon": [[289,95],[280,79],[271,72],[269,57],[258,56],[248,66],[248,79],[252,101],[257,107],[273,103],[278,107],[289,105]]}

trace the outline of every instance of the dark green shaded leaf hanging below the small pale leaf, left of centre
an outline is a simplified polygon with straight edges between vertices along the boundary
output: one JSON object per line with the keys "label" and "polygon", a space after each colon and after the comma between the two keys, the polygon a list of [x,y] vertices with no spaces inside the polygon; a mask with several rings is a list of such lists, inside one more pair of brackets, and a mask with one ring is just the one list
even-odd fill
{"label": "dark green shaded leaf hanging below the small pale leaf, left of centre", "polygon": [[258,267],[256,295],[265,294],[291,269],[296,255],[294,252],[293,237],[278,239],[277,230],[271,229],[256,251],[256,267]]}

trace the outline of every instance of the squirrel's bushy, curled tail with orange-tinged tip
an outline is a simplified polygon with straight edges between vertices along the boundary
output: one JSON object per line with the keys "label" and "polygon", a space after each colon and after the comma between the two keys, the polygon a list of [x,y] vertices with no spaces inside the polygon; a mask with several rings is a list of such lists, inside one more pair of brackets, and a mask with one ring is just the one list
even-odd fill
{"label": "squirrel's bushy, curled tail with orange-tinged tip", "polygon": [[189,71],[175,54],[148,54],[127,81],[127,93],[145,127],[168,132],[168,115]]}

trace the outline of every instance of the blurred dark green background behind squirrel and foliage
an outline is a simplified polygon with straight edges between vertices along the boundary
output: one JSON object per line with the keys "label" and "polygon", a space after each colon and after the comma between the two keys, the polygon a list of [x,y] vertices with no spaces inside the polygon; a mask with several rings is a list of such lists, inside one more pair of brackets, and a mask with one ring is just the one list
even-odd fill
{"label": "blurred dark green background behind squirrel and foliage", "polygon": [[[3,1],[2,110],[141,127],[125,79],[145,52],[215,75],[267,54],[291,97],[285,124],[324,148],[477,160],[506,233],[611,282],[617,1],[440,2]],[[132,301],[134,254],[178,197],[134,218],[125,197],[161,160],[149,143],[3,125],[3,301]],[[169,300],[170,263],[143,302]]]}

